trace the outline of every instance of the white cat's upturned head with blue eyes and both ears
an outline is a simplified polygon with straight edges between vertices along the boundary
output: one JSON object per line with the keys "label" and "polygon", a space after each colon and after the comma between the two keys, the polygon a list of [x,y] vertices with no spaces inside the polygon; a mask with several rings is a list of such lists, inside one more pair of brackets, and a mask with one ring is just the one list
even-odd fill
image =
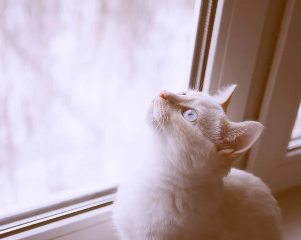
{"label": "white cat's upturned head with blue eyes and both ears", "polygon": [[236,85],[229,86],[213,96],[191,90],[178,94],[161,92],[153,100],[148,117],[164,147],[177,154],[195,156],[197,159],[187,163],[189,166],[199,167],[214,159],[216,164],[231,166],[263,130],[259,122],[228,120],[227,107],[235,88]]}

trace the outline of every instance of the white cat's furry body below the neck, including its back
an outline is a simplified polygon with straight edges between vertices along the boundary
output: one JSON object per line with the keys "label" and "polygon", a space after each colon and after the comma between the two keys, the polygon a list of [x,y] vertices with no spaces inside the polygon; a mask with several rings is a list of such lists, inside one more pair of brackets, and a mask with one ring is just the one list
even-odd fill
{"label": "white cat's furry body below the neck, including its back", "polygon": [[187,189],[154,175],[136,174],[119,189],[115,221],[122,240],[281,239],[277,203],[252,174],[232,169],[224,187]]}

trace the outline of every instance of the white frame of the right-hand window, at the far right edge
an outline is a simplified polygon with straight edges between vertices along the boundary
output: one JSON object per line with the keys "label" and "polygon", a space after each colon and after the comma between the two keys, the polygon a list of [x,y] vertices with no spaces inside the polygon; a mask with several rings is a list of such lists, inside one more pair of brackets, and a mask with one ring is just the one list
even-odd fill
{"label": "white frame of the right-hand window, at the far right edge", "polygon": [[301,184],[300,149],[287,151],[301,100],[301,3],[289,0],[266,87],[259,121],[268,126],[255,143],[248,169],[274,192]]}

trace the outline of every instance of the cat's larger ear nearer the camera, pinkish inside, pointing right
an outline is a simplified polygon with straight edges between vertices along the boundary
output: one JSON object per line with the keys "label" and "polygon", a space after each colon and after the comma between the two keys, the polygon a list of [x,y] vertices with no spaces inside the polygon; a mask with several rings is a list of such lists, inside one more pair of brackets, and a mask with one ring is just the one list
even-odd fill
{"label": "cat's larger ear nearer the camera, pinkish inside, pointing right", "polygon": [[221,143],[217,151],[228,159],[228,163],[245,153],[256,142],[262,133],[263,125],[255,121],[230,122],[223,119],[221,129]]}

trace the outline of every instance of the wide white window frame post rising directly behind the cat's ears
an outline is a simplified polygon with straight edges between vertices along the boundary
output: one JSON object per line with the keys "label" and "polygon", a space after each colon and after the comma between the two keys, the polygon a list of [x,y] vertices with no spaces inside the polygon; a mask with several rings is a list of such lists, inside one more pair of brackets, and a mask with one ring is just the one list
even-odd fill
{"label": "wide white window frame post rising directly behind the cat's ears", "polygon": [[238,85],[227,112],[232,121],[258,120],[284,7],[284,0],[218,2],[203,91]]}

